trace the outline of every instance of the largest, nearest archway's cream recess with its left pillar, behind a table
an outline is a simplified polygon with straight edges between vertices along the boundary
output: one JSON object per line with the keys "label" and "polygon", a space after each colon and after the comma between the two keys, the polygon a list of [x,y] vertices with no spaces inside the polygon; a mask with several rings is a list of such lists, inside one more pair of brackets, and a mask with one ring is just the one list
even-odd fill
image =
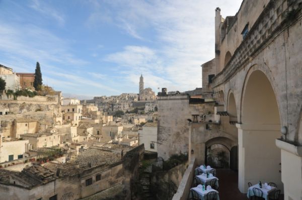
{"label": "largest, nearest archway's cream recess with its left pillar, behind a table", "polygon": [[239,189],[247,192],[248,182],[281,182],[281,155],[275,139],[281,136],[280,115],[272,84],[260,70],[247,75],[238,127]]}

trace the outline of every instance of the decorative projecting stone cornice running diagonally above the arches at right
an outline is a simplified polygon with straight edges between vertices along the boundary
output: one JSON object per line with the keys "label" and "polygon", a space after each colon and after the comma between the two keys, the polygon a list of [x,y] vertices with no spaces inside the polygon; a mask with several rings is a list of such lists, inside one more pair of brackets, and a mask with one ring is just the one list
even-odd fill
{"label": "decorative projecting stone cornice running diagonally above the arches at right", "polygon": [[301,16],[301,7],[302,0],[271,0],[236,49],[230,62],[212,79],[212,87],[232,78],[250,58],[261,52],[274,36],[295,23]]}

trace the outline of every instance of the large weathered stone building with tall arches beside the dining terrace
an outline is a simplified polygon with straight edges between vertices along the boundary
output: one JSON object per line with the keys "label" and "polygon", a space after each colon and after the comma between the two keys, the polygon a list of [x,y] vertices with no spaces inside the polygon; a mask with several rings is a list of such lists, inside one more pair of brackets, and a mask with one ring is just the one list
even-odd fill
{"label": "large weathered stone building with tall arches beside the dining terrace", "polygon": [[[230,156],[238,155],[241,192],[247,192],[248,182],[271,181],[284,199],[300,199],[302,1],[243,1],[235,16],[224,19],[220,12],[216,8],[215,76],[207,87],[224,136],[210,144],[223,143]],[[191,125],[195,144],[204,139],[196,126]],[[191,148],[192,159],[205,161],[195,154],[202,145]]]}

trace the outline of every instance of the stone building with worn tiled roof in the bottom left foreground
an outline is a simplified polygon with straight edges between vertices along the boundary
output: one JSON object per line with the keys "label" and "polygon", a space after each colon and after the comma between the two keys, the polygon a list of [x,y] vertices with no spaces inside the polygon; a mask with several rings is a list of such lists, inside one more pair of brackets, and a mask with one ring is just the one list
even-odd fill
{"label": "stone building with worn tiled roof in the bottom left foreground", "polygon": [[[119,149],[120,150],[120,149]],[[21,172],[0,169],[3,199],[131,199],[143,146],[125,155],[106,148],[88,148],[68,163],[34,164]],[[112,189],[113,191],[110,191]]]}

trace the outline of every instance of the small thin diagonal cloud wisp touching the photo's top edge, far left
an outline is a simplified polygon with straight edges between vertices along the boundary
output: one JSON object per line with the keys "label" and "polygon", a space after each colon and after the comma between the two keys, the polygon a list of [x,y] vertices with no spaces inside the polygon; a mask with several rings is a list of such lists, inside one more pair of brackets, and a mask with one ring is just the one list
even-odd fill
{"label": "small thin diagonal cloud wisp touching the photo's top edge, far left", "polygon": [[64,17],[55,9],[51,8],[50,5],[46,5],[45,1],[32,0],[30,7],[45,17],[53,18],[59,23],[60,26],[65,24]]}

